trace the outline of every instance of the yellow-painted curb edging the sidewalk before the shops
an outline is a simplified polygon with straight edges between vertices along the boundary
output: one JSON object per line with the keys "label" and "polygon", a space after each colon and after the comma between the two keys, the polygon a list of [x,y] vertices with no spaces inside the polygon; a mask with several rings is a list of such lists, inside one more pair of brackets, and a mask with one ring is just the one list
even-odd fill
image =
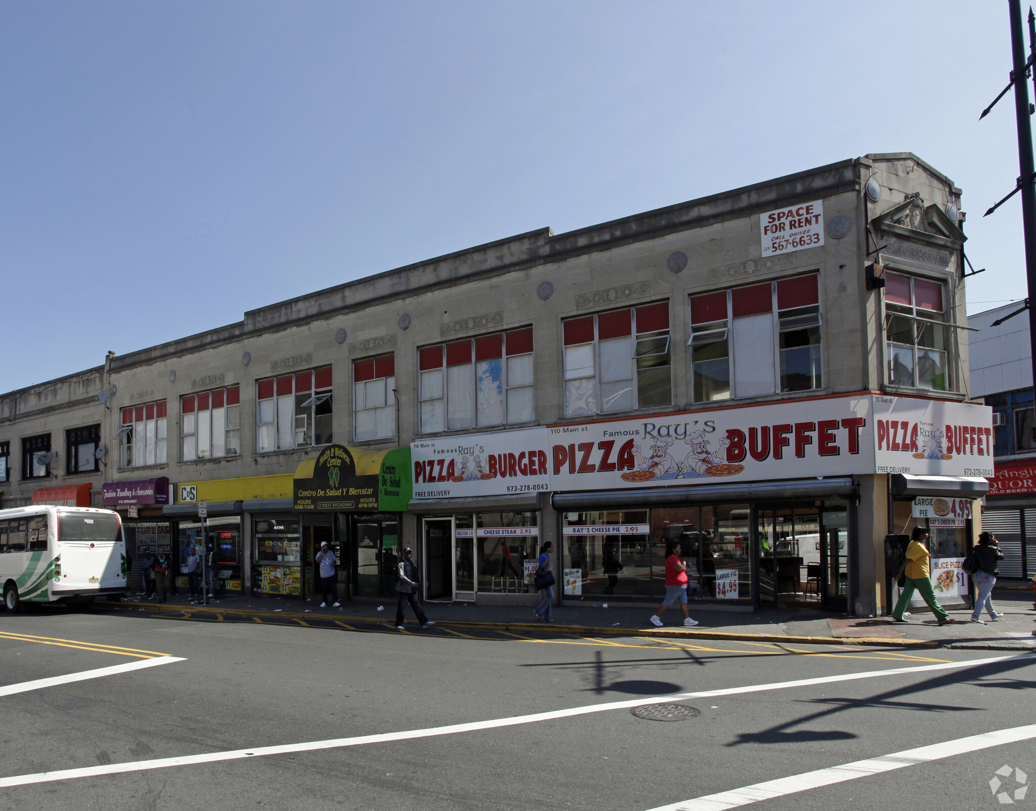
{"label": "yellow-painted curb edging the sidewalk before the shops", "polygon": [[[171,606],[168,604],[153,604],[153,603],[136,603],[122,601],[120,603],[111,603],[113,606],[125,606],[127,608],[143,608],[152,611],[176,611],[182,612],[195,612],[200,611],[204,613],[220,613],[220,614],[234,614],[236,616],[270,616],[270,617],[281,617],[290,619],[313,619],[316,617],[325,617],[327,619],[337,619],[342,622],[379,622],[388,625],[386,620],[381,620],[376,617],[369,616],[333,616],[325,614],[314,614],[312,611],[309,612],[310,616],[307,617],[305,613],[289,612],[289,611],[265,611],[262,609],[250,611],[242,608],[215,608],[212,606]],[[467,628],[483,631],[513,631],[513,632],[524,632],[524,633],[543,633],[544,631],[550,631],[555,634],[572,634],[578,636],[646,636],[646,637],[660,637],[668,639],[725,639],[733,641],[746,641],[746,642],[792,642],[798,644],[810,644],[810,645],[864,645],[864,646],[882,646],[882,647],[939,647],[942,643],[931,642],[924,639],[886,639],[882,637],[860,637],[860,638],[845,638],[836,639],[827,636],[786,636],[784,634],[739,634],[736,632],[726,631],[692,631],[683,629],[636,629],[636,628],[594,628],[592,626],[558,626],[558,625],[547,625],[543,622],[473,622],[464,620],[453,620],[453,619],[436,619],[436,626],[441,626],[442,628]]]}

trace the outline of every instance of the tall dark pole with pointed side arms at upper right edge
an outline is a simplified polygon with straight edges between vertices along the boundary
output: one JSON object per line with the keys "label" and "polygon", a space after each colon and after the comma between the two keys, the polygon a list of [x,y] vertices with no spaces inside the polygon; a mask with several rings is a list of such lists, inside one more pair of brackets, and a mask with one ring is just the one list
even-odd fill
{"label": "tall dark pole with pointed side arms at upper right edge", "polygon": [[[1018,184],[1021,193],[1021,224],[1026,242],[1026,280],[1029,300],[1036,302],[1036,167],[1033,164],[1033,131],[1029,112],[1026,42],[1021,28],[1021,0],[1008,0],[1011,12],[1011,60],[1014,81],[1014,114],[1018,125]],[[1030,39],[1033,12],[1029,9]],[[1030,46],[1033,46],[1030,42]],[[1036,384],[1036,307],[1029,308],[1029,342],[1032,348],[1033,382]]]}

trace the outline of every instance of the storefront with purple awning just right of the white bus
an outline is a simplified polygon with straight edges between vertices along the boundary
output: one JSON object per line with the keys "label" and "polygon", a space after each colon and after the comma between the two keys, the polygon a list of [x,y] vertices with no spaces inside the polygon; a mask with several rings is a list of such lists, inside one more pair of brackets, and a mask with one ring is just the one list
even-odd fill
{"label": "storefront with purple awning just right of the white bus", "polygon": [[172,554],[172,522],[163,510],[171,500],[172,488],[165,476],[137,482],[115,482],[102,486],[102,505],[122,517],[126,553],[132,560],[130,587],[144,592],[140,559],[145,554]]}

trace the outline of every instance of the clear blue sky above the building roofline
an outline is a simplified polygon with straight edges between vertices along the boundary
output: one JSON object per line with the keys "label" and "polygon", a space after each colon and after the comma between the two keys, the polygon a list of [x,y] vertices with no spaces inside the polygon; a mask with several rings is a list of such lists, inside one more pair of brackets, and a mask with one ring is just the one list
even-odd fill
{"label": "clear blue sky above the building roofline", "polygon": [[1025,296],[1006,2],[7,2],[0,390],[493,239],[867,152]]}

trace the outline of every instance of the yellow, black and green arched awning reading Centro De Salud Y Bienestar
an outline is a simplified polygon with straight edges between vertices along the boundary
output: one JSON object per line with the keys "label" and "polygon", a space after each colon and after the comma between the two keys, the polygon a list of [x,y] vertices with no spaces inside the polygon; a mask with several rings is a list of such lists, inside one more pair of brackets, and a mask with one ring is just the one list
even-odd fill
{"label": "yellow, black and green arched awning reading Centro De Salud Y Bienestar", "polygon": [[410,448],[328,445],[295,469],[296,512],[399,513],[410,501]]}

